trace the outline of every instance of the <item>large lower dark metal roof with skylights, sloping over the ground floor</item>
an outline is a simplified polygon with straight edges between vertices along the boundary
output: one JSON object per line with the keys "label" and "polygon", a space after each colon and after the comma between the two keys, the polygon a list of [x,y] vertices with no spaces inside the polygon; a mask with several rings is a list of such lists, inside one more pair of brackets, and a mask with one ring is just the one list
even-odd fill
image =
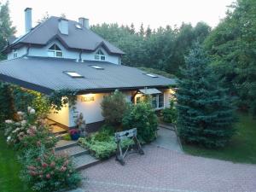
{"label": "large lower dark metal roof with skylights, sloping over the ground floor", "polygon": [[[90,67],[91,65],[102,67],[103,70]],[[84,78],[72,78],[63,73],[67,71],[79,73]],[[135,90],[144,87],[160,88],[176,82],[175,79],[156,76],[158,78],[151,78],[135,67],[119,66],[103,61],[76,62],[31,56],[0,61],[0,80],[47,94],[61,89],[86,92],[115,89]]]}

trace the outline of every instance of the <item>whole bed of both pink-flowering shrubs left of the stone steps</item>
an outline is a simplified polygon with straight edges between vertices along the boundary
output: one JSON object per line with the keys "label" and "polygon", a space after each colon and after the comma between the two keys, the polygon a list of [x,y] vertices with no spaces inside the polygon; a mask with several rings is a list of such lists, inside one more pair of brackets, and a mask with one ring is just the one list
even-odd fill
{"label": "whole bed of both pink-flowering shrubs left of the stone steps", "polygon": [[5,126],[7,143],[20,153],[21,178],[32,186],[32,190],[51,192],[78,186],[81,178],[72,160],[66,155],[55,154],[57,139],[34,109],[18,112],[18,120],[8,119]]}

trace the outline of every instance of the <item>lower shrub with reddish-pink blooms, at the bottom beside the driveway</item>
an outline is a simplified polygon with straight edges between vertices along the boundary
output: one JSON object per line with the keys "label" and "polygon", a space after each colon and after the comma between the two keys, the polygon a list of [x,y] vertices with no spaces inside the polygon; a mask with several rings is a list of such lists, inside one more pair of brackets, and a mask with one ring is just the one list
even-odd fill
{"label": "lower shrub with reddish-pink blooms, at the bottom beside the driveway", "polygon": [[44,146],[26,150],[21,178],[35,191],[60,191],[78,186],[81,178],[66,154],[55,154]]}

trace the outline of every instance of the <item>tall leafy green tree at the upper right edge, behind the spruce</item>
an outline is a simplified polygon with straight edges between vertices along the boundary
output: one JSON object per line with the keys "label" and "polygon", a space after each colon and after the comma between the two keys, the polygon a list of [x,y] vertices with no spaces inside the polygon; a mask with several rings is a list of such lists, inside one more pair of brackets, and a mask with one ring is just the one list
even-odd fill
{"label": "tall leafy green tree at the upper right edge, behind the spruce", "polygon": [[205,48],[237,106],[256,114],[256,2],[238,0],[212,31]]}

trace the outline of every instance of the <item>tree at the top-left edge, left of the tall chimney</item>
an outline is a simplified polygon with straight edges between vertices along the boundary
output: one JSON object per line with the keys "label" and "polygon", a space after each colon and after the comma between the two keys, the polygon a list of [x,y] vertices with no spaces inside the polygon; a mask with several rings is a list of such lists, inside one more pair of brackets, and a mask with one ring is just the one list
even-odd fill
{"label": "tree at the top-left edge, left of the tall chimney", "polygon": [[[9,16],[9,1],[6,3],[0,2],[0,50],[8,44],[9,38],[16,32],[15,26],[12,26],[12,21]],[[6,59],[6,55],[0,53],[0,61]]]}

